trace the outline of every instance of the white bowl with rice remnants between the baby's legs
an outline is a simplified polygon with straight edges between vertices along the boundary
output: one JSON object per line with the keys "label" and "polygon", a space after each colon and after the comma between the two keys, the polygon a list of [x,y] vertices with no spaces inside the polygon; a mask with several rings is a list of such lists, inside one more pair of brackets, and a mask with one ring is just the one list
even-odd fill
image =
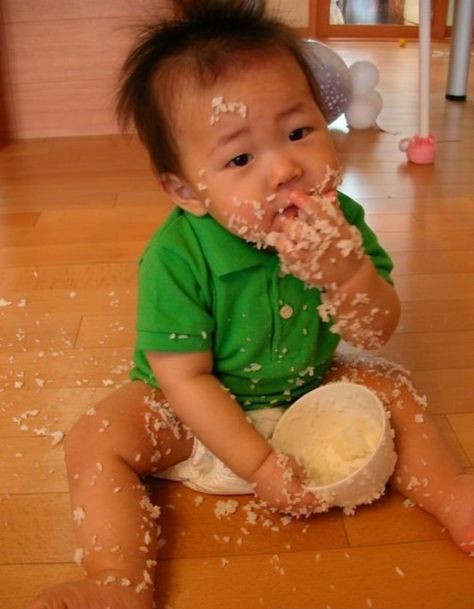
{"label": "white bowl with rice remnants between the baby's legs", "polygon": [[301,397],[278,421],[271,442],[301,460],[312,477],[309,489],[328,508],[346,513],[383,495],[397,460],[389,413],[355,383],[330,383]]}

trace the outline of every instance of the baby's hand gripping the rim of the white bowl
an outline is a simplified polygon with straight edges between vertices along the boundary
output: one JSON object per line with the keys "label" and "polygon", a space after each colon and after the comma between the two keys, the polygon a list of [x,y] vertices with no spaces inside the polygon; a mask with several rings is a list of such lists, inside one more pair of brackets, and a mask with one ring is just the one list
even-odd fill
{"label": "baby's hand gripping the rim of the white bowl", "polygon": [[255,494],[268,507],[291,516],[310,516],[327,510],[307,490],[306,470],[288,455],[272,451],[252,476]]}

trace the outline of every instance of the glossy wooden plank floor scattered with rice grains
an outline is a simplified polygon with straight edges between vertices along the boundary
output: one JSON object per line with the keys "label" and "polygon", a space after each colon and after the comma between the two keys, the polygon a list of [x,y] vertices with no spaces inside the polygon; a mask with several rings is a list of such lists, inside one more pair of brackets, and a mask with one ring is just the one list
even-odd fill
{"label": "glossy wooden plank floor scattered with rice grains", "polygon": [[[434,166],[398,151],[417,131],[417,49],[333,45],[374,61],[385,131],[335,131],[343,190],[363,202],[396,264],[400,327],[384,354],[413,370],[467,470],[474,465],[474,74],[444,100],[446,45],[432,59]],[[398,132],[398,133],[396,133]],[[169,205],[133,138],[13,143],[1,152],[0,607],[78,578],[61,432],[124,382],[134,339],[136,261]],[[392,492],[353,517],[284,526],[249,498],[156,491],[166,544],[160,609],[472,608],[474,561]],[[258,574],[258,578],[257,578]]]}

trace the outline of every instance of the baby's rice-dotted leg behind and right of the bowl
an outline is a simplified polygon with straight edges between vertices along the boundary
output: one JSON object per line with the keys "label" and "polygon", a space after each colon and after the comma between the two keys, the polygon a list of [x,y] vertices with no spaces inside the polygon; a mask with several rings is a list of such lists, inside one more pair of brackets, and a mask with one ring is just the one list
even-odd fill
{"label": "baby's rice-dotted leg behind and right of the bowl", "polygon": [[393,486],[433,514],[462,550],[474,551],[474,476],[463,474],[408,372],[381,358],[344,357],[326,380],[356,382],[379,395],[395,430]]}

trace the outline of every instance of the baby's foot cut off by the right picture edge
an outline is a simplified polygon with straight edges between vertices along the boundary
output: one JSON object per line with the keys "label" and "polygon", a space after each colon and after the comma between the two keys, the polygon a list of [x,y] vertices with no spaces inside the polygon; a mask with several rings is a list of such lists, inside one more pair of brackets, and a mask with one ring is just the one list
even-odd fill
{"label": "baby's foot cut off by the right picture edge", "polygon": [[446,491],[438,518],[463,552],[474,556],[474,476],[459,474]]}

